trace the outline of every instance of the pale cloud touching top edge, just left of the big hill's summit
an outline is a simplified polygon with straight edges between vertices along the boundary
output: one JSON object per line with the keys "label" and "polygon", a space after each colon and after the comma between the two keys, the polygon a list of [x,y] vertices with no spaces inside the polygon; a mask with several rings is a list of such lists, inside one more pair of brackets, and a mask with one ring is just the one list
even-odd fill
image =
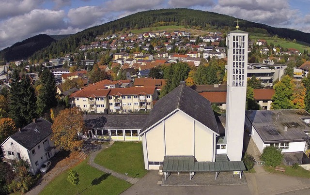
{"label": "pale cloud touching top edge, just left of the big hill's summit", "polygon": [[165,0],[108,0],[105,9],[109,12],[137,11],[155,9],[164,3]]}

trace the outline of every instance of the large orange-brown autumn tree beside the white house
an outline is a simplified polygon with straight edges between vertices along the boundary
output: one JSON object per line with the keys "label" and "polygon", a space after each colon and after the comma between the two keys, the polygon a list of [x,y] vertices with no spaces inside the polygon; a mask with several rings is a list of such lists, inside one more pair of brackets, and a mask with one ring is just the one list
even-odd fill
{"label": "large orange-brown autumn tree beside the white house", "polygon": [[62,150],[75,151],[83,145],[78,134],[84,132],[84,119],[78,107],[62,110],[52,125],[52,140]]}

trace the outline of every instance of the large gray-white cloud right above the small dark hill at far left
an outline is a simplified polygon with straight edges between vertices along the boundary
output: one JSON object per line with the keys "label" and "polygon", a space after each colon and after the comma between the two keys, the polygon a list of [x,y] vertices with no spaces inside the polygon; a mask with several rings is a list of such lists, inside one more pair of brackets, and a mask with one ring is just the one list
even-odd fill
{"label": "large gray-white cloud right above the small dark hill at far left", "polygon": [[0,45],[12,45],[47,30],[61,30],[66,27],[64,11],[32,10],[0,22]]}

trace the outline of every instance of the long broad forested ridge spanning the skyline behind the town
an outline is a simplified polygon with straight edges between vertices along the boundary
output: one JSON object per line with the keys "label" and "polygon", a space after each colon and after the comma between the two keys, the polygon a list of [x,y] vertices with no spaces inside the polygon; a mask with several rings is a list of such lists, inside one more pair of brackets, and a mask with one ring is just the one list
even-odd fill
{"label": "long broad forested ridge spanning the skyline behind the town", "polygon": [[[236,18],[228,15],[186,8],[138,12],[100,26],[83,30],[60,41],[54,42],[47,48],[36,52],[31,59],[44,59],[50,55],[59,56],[61,52],[74,53],[78,51],[80,45],[94,41],[94,38],[98,35],[103,35],[105,32],[114,33],[123,30],[124,28],[130,30],[163,25],[185,25],[189,27],[200,27],[202,29],[212,28],[229,30],[229,28],[236,26],[235,20]],[[289,38],[291,40],[296,39],[298,41],[310,43],[310,33],[298,30],[274,28],[245,20],[241,20],[239,26],[240,30],[262,30],[264,33],[269,33],[271,35],[277,34],[282,38]]]}

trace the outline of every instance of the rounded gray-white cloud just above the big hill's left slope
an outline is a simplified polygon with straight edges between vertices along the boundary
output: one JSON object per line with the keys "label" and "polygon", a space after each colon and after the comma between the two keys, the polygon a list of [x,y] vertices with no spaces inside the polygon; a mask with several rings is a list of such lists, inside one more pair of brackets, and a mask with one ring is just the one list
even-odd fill
{"label": "rounded gray-white cloud just above the big hill's left slope", "polygon": [[84,6],[70,9],[68,18],[69,25],[73,28],[90,27],[102,21],[102,17],[107,14],[103,8],[94,6]]}

